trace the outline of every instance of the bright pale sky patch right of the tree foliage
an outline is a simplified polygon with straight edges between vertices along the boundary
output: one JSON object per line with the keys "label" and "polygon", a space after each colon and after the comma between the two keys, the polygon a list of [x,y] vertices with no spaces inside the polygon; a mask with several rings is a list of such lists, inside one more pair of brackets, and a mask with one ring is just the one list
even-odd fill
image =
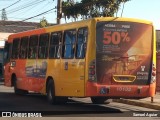
{"label": "bright pale sky patch right of the tree foliage", "polygon": [[[121,7],[122,8],[122,7]],[[119,10],[119,17],[122,10]],[[124,6],[123,17],[152,21],[160,30],[160,0],[131,0]]]}

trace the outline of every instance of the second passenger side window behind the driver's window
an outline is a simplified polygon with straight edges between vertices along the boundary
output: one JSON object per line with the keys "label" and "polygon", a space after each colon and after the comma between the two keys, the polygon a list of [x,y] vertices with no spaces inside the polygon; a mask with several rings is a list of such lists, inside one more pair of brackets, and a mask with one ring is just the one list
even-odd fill
{"label": "second passenger side window behind the driver's window", "polygon": [[21,38],[19,58],[21,59],[27,58],[27,49],[28,49],[28,37],[26,36]]}

